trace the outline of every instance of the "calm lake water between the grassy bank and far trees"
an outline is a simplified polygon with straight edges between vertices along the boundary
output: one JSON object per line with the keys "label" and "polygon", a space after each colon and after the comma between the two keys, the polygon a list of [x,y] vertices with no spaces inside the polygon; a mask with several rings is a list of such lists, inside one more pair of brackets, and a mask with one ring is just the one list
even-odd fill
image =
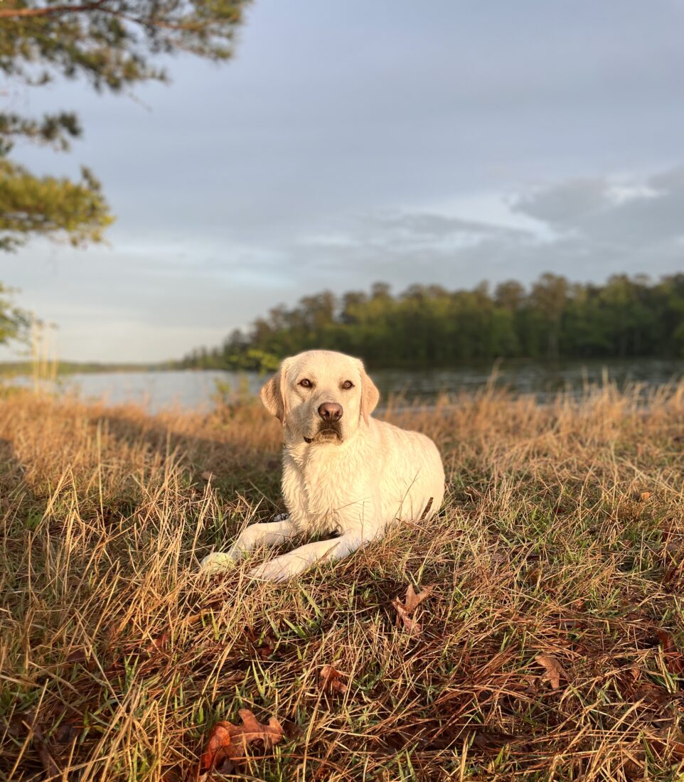
{"label": "calm lake water between the grassy bank and far trees", "polygon": [[[446,391],[475,391],[487,382],[506,386],[515,393],[533,393],[539,400],[548,400],[559,391],[582,393],[586,386],[601,385],[605,378],[619,388],[634,382],[649,386],[684,378],[684,360],[662,361],[569,361],[562,364],[539,364],[534,361],[502,361],[492,364],[452,369],[406,371],[379,370],[371,372],[386,399],[389,393],[403,394],[407,399],[421,398],[426,402]],[[209,410],[217,393],[217,382],[231,389],[240,388],[257,393],[266,375],[222,371],[159,371],[103,372],[101,374],[66,375],[51,387],[60,393],[79,393],[84,399],[105,400],[107,404],[134,401],[156,412],[165,407],[180,406]],[[30,385],[30,378],[12,378],[4,382]]]}

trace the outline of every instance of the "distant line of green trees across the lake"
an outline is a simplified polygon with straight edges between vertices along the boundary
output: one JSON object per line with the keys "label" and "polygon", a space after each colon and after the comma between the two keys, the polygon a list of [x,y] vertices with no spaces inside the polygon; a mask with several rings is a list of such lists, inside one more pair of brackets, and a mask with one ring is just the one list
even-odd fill
{"label": "distant line of green trees across the lake", "polygon": [[528,288],[514,281],[456,291],[411,285],[396,295],[382,282],[370,292],[324,291],[292,309],[274,307],[247,331],[193,350],[179,365],[268,370],[311,348],[351,353],[374,368],[684,356],[684,274],[659,282],[619,274],[603,285],[543,274]]}

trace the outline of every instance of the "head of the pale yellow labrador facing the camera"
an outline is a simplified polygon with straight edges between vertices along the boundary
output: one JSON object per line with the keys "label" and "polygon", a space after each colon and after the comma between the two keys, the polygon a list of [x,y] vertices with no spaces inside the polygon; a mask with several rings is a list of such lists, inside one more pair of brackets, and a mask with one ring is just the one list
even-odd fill
{"label": "head of the pale yellow labrador facing the camera", "polygon": [[286,358],[261,399],[285,427],[290,443],[342,443],[378,404],[380,393],[358,358],[307,350]]}

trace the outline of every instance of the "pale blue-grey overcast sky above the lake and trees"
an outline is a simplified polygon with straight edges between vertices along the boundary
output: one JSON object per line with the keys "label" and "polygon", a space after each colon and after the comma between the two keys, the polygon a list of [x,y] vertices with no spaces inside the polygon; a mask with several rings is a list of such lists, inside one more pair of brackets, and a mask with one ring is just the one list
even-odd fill
{"label": "pale blue-grey overcast sky above the lake and trees", "polygon": [[0,279],[60,357],[156,361],[322,289],[684,271],[682,33],[682,0],[256,0],[169,85],[9,85],[78,110],[70,155],[21,157],[88,164],[117,221]]}

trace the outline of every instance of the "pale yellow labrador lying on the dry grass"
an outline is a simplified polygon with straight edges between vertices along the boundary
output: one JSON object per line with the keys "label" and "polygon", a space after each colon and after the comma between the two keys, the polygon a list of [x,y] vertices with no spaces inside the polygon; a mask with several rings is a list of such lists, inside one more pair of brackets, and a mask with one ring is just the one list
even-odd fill
{"label": "pale yellow labrador lying on the dry grass", "polygon": [[439,511],[444,468],[435,443],[371,418],[380,394],[359,359],[329,350],[286,358],[261,389],[283,425],[286,517],[252,524],[230,551],[209,554],[202,570],[221,572],[264,544],[337,534],[295,548],[250,572],[282,581],[314,562],[346,557],[396,521]]}

